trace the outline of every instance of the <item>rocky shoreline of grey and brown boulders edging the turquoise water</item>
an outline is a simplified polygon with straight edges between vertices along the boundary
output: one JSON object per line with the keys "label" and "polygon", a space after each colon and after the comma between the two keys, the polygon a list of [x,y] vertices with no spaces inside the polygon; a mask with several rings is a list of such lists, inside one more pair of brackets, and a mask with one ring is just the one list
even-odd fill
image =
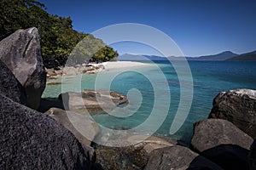
{"label": "rocky shoreline of grey and brown boulders edging the turquoise water", "polygon": [[[46,71],[38,30],[16,31],[0,47],[1,169],[256,169],[255,90],[218,94],[209,118],[195,122],[188,147],[142,134],[120,141],[136,144],[108,147],[93,142],[101,128],[79,110],[112,110],[129,102],[125,95],[84,90],[41,99]],[[47,74],[72,75],[88,67],[73,68]]]}

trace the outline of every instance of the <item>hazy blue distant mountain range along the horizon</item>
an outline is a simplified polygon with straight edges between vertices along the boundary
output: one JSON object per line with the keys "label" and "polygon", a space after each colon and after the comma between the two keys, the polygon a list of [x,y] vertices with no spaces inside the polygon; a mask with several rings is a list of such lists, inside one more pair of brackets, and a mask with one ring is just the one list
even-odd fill
{"label": "hazy blue distant mountain range along the horizon", "polygon": [[[155,55],[134,55],[134,54],[123,54],[120,55],[119,60],[166,60],[166,57],[160,57]],[[177,56],[170,56],[168,59],[172,60],[181,60],[181,57]],[[225,51],[220,54],[213,54],[213,55],[206,55],[200,57],[186,57],[187,60],[212,60],[212,61],[224,61],[224,60],[249,60],[249,61],[256,61],[256,51],[246,53],[246,54],[234,54],[230,51]]]}

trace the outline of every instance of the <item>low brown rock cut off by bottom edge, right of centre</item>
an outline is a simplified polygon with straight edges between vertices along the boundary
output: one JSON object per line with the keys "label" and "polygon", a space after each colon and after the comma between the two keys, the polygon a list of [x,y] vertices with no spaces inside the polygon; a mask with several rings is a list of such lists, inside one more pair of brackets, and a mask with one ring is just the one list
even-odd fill
{"label": "low brown rock cut off by bottom edge, right of centre", "polygon": [[189,148],[175,145],[153,150],[145,170],[166,169],[222,169]]}

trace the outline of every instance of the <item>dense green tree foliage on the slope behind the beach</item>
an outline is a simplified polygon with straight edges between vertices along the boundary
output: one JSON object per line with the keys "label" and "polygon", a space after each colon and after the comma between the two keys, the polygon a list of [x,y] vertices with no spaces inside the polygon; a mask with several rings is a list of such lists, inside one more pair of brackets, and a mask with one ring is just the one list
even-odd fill
{"label": "dense green tree foliage on the slope behind the beach", "polygon": [[117,58],[118,53],[102,40],[74,31],[70,17],[51,15],[44,9],[44,4],[34,0],[1,0],[0,40],[20,28],[37,27],[44,65],[48,67],[65,65],[67,59],[72,61],[69,63],[79,64]]}

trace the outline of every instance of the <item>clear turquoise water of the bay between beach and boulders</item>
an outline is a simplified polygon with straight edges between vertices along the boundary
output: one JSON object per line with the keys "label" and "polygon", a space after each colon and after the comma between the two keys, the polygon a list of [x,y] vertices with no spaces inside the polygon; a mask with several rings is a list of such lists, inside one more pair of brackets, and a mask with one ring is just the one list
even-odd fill
{"label": "clear turquoise water of the bay between beach and boulders", "polygon": [[[170,63],[158,61],[157,65],[164,73],[164,77],[160,77],[159,71],[154,67],[138,69],[141,73],[138,71],[104,71],[99,81],[101,83],[97,83],[96,88],[108,88],[109,85],[111,90],[121,94],[127,94],[129,90],[136,88],[142,96],[142,103],[140,105],[140,95],[132,95],[132,92],[137,93],[136,90],[133,90],[131,95],[129,94],[131,101],[129,110],[136,111],[134,114],[127,117],[116,117],[108,114],[96,115],[93,116],[96,122],[104,127],[115,129],[137,127],[148,119],[155,106],[155,100],[160,104],[157,105],[157,118],[161,119],[165,116],[163,108],[166,108],[166,101],[170,97],[166,94],[170,90],[171,104],[168,105],[169,110],[166,119],[155,134],[189,142],[193,132],[193,122],[207,118],[212,109],[212,100],[219,92],[236,88],[256,89],[256,62],[189,61],[194,82],[192,105],[189,116],[183,123],[183,126],[177,133],[170,135],[170,127],[177,113],[180,100],[180,83],[177,73]],[[180,66],[182,67],[183,65]],[[146,77],[147,75],[143,74],[145,72],[150,77]],[[108,84],[106,81],[110,80],[113,74],[117,76]],[[97,75],[87,74],[67,77],[65,78],[65,86],[62,92],[80,91],[80,89],[85,88],[94,89],[96,77]],[[180,78],[186,79],[186,77]],[[55,81],[60,82],[61,79]],[[166,82],[169,84],[169,87],[166,86]],[[157,94],[156,98],[154,97],[155,91],[161,93]],[[59,94],[61,94],[61,85],[49,85],[45,89],[43,97],[57,97]],[[130,111],[127,110],[127,112]],[[154,120],[148,124],[148,128],[151,126],[154,126]]]}

